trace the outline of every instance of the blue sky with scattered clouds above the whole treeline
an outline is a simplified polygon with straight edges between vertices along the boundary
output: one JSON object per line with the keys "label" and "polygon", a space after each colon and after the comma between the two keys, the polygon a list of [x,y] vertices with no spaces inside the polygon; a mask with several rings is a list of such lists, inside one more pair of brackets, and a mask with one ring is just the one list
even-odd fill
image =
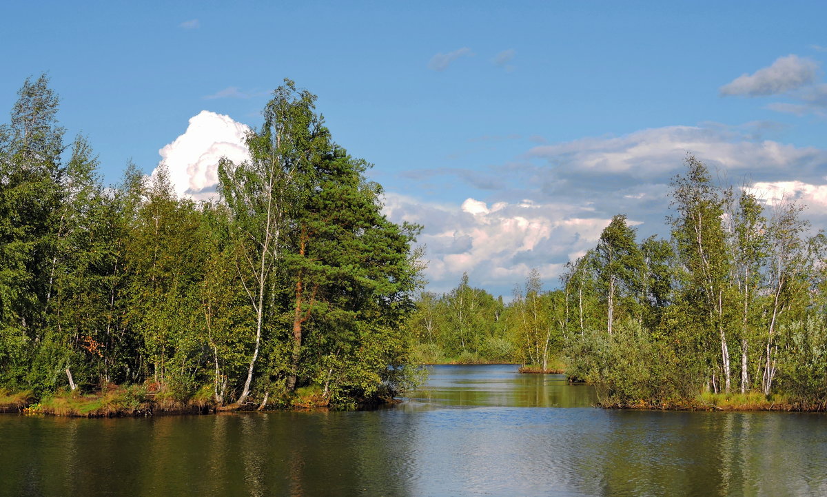
{"label": "blue sky with scattered clouds above the whole treeline", "polygon": [[[165,155],[185,175],[294,79],[389,216],[425,225],[435,291],[468,271],[509,294],[530,267],[552,287],[614,213],[665,234],[686,151],[827,209],[821,2],[70,3],[3,7],[0,108],[47,72],[116,182],[187,131]],[[232,121],[188,131],[204,110]]]}

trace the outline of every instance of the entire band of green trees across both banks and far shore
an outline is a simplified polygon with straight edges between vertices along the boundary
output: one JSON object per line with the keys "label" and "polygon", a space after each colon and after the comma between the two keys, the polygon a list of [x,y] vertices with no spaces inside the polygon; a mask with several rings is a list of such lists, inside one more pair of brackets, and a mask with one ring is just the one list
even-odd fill
{"label": "entire band of green trees across both banks and far shore", "polygon": [[694,157],[672,182],[671,240],[638,242],[614,216],[560,289],[533,270],[506,304],[468,275],[421,291],[419,227],[385,218],[370,164],[292,81],[246,136],[250,160],[222,160],[211,203],[177,198],[163,165],[104,187],[88,141],[65,144],[48,79],[18,95],[0,126],[7,404],[346,409],[416,385],[423,362],[563,357],[607,405],[827,405],[827,237]]}

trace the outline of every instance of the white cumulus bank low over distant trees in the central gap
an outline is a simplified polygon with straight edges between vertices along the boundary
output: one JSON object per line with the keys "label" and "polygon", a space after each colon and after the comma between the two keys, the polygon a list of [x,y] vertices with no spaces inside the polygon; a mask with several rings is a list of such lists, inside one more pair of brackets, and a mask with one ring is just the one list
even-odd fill
{"label": "white cumulus bank low over distant trees in the central gap", "polygon": [[426,246],[430,289],[446,292],[467,272],[472,284],[506,296],[532,268],[555,286],[566,261],[594,246],[610,221],[567,203],[466,198],[457,206],[390,192],[385,214],[425,227],[418,242]]}

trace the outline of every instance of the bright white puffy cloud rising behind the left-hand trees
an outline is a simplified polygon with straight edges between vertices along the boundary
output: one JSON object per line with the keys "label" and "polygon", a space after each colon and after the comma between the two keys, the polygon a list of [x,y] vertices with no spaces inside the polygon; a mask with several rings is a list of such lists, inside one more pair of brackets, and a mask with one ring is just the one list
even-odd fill
{"label": "bright white puffy cloud rising behind the left-hand trees", "polygon": [[[201,111],[189,119],[184,134],[158,153],[170,171],[179,196],[211,198],[218,184],[218,160],[242,162],[249,158],[244,137],[250,128],[232,117]],[[155,174],[155,171],[153,171]]]}

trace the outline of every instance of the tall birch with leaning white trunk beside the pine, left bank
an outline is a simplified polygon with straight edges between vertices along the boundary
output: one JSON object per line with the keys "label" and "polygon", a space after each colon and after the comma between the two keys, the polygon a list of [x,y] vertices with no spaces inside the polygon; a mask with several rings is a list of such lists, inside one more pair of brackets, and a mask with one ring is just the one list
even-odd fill
{"label": "tall birch with leaning white trunk beside the pine, left bank", "polygon": [[[255,341],[237,404],[243,404],[250,394],[265,319],[273,313],[274,273],[282,261],[285,223],[295,202],[294,179],[313,159],[309,146],[320,128],[313,112],[314,101],[313,94],[297,90],[293,81],[285,79],[265,107],[261,129],[247,134],[249,160],[233,164],[225,159],[218,165],[218,191],[232,212],[232,236],[238,243],[237,271],[256,314]],[[300,324],[304,318],[304,287],[301,280],[297,285],[296,348],[301,345]]]}

